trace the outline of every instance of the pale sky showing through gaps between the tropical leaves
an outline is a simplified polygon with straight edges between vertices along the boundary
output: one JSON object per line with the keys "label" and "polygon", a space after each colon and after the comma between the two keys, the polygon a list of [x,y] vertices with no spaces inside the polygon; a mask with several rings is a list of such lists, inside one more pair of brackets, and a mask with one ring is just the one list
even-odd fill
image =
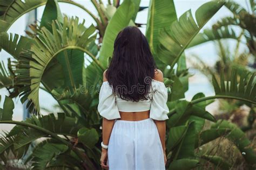
{"label": "pale sky showing through gaps between the tropical leaves", "polygon": [[[86,6],[87,9],[89,9],[94,15],[97,16],[97,11],[95,10],[94,6],[90,2],[90,0],[80,0],[80,1],[75,1],[79,4],[82,4]],[[103,1],[104,4],[107,3],[107,1]],[[122,2],[122,1],[121,1]],[[149,6],[149,0],[142,0],[140,2],[140,6]],[[200,0],[200,1],[193,1],[193,0],[174,0],[174,5],[177,11],[177,17],[180,17],[184,12],[187,10],[191,9],[193,17],[194,13],[196,10],[201,6],[202,4],[206,3],[208,1]],[[236,1],[239,4],[241,4],[245,9],[247,9],[246,6],[246,1],[240,0]],[[71,5],[71,4],[66,4],[66,3],[59,3],[60,5],[60,10],[65,13],[68,16],[77,16],[80,18],[80,22],[82,22],[83,19],[85,19],[85,26],[90,26],[91,24],[96,25],[94,20],[88,15],[86,12],[84,12],[82,9],[78,8],[77,6]],[[41,20],[42,14],[43,14],[44,6],[41,6],[37,10],[37,15],[38,15],[38,20]],[[136,23],[143,23],[146,24],[147,22],[147,12],[148,10],[145,9],[141,12],[138,13],[137,18],[136,18]],[[217,22],[220,18],[223,18],[225,16],[232,16],[232,13],[223,6],[209,21],[208,23],[201,29],[203,31],[206,28],[211,28],[211,26]],[[16,33],[19,35],[25,36],[25,24],[26,24],[26,18],[28,15],[24,15],[21,18],[19,18],[8,30],[10,33]],[[143,27],[140,29],[144,34],[146,27]],[[200,31],[200,32],[201,32]],[[239,30],[235,30],[236,33],[239,33]],[[234,40],[228,40],[228,44],[231,45],[231,50],[232,47],[235,45]],[[241,47],[241,50],[244,50],[245,47]],[[193,48],[189,48],[185,50],[186,57],[189,57],[192,54],[196,54],[200,57],[200,59],[204,60],[207,65],[214,65],[214,63],[218,60],[218,54],[216,51],[216,48],[214,46],[213,42],[207,42],[203,45],[199,45]],[[0,58],[2,61],[5,61],[8,58],[12,58],[8,53],[2,51],[0,52]],[[189,67],[190,64],[187,63],[187,66]],[[189,79],[189,89],[185,94],[186,100],[191,100],[191,98],[199,93],[203,92],[206,96],[211,96],[214,95],[214,90],[213,87],[211,86],[210,82],[208,82],[208,79],[206,77],[198,72],[195,72],[194,70],[190,70],[191,74],[196,74]],[[0,94],[2,95],[2,101],[3,101],[3,95],[8,95],[8,91],[6,89],[0,89]],[[23,105],[19,101],[18,98],[15,100],[15,109],[14,109],[14,115],[13,119],[15,121],[21,121],[23,118]],[[54,112],[57,112],[58,110],[53,109],[53,105],[56,104],[57,102],[53,100],[52,96],[49,94],[45,93],[44,91],[40,90],[39,91],[39,102],[41,107],[52,110]],[[2,108],[2,104],[0,103],[0,106]],[[211,110],[211,109],[210,109]],[[45,114],[45,113],[44,113]],[[9,131],[13,125],[5,125],[5,124],[0,124],[0,131]]]}

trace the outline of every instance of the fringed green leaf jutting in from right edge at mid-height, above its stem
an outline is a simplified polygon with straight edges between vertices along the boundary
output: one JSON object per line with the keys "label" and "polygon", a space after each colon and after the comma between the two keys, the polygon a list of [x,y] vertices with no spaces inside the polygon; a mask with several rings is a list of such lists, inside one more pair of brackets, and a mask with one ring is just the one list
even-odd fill
{"label": "fringed green leaf jutting in from right edge at mid-height, above its stem", "polygon": [[256,80],[255,73],[245,72],[241,74],[239,82],[238,68],[233,67],[231,75],[224,77],[224,70],[220,70],[220,84],[216,77],[212,75],[215,95],[220,98],[233,98],[251,103],[256,103]]}

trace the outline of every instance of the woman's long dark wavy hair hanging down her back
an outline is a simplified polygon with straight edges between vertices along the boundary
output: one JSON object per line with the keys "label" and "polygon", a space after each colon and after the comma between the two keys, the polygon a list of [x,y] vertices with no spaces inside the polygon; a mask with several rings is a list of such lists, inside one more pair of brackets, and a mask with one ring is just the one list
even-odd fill
{"label": "woman's long dark wavy hair hanging down her back", "polygon": [[125,27],[114,41],[113,56],[106,70],[113,94],[126,101],[148,100],[156,71],[156,62],[144,34],[136,26]]}

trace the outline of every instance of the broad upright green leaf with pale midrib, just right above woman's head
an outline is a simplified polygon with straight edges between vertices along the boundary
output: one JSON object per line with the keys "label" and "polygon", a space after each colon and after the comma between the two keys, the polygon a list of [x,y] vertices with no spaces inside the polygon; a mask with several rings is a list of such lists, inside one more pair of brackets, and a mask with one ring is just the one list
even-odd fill
{"label": "broad upright green leaf with pale midrib, just right above woman's head", "polygon": [[177,20],[177,16],[173,0],[150,1],[146,37],[153,54],[155,54],[156,47],[159,43],[158,37],[160,31],[170,26],[174,20]]}

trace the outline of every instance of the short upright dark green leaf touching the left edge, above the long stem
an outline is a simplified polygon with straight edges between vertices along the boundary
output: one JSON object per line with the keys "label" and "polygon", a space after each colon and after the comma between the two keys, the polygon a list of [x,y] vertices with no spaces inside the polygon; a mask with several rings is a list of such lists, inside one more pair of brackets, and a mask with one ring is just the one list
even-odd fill
{"label": "short upright dark green leaf touching the left edge, above the long stem", "polygon": [[0,121],[11,121],[14,112],[14,101],[8,96],[5,96],[3,109],[0,108]]}

